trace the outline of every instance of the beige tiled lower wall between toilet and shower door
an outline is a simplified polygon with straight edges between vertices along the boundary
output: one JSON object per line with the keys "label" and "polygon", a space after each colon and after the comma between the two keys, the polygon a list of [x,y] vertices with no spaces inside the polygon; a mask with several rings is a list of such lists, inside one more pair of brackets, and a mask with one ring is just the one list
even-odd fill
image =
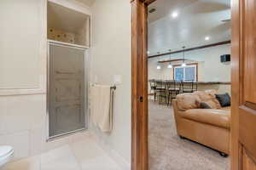
{"label": "beige tiled lower wall between toilet and shower door", "polygon": [[0,97],[0,144],[13,145],[16,159],[36,154],[41,148],[44,100],[42,94]]}

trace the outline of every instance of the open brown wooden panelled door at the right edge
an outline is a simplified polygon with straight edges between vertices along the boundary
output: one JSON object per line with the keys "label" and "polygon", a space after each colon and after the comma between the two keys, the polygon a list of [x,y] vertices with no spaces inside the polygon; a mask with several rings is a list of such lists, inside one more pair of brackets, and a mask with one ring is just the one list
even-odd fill
{"label": "open brown wooden panelled door at the right edge", "polygon": [[232,170],[256,170],[256,1],[232,6]]}

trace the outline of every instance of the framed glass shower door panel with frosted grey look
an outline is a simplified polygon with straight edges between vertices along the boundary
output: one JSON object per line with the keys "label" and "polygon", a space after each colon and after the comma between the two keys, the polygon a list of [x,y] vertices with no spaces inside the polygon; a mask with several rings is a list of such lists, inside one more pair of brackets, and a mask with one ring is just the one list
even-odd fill
{"label": "framed glass shower door panel with frosted grey look", "polygon": [[84,49],[49,44],[49,138],[85,127]]}

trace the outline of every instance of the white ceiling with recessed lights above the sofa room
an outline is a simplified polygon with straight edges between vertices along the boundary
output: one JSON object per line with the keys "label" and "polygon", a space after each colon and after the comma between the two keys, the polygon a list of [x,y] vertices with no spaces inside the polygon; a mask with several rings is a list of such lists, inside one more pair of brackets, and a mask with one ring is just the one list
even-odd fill
{"label": "white ceiling with recessed lights above the sofa room", "polygon": [[158,0],[150,8],[156,12],[148,14],[149,55],[230,40],[230,22],[222,21],[230,19],[230,0]]}

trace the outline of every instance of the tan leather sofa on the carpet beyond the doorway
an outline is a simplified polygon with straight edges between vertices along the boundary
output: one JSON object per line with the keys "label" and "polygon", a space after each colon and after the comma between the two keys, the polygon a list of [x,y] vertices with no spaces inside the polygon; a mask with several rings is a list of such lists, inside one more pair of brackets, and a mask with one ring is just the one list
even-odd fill
{"label": "tan leather sofa on the carpet beyond the doorway", "polygon": [[[222,108],[215,91],[179,94],[173,100],[177,134],[218,150],[221,156],[230,154],[230,107]],[[200,109],[205,102],[213,109]]]}

